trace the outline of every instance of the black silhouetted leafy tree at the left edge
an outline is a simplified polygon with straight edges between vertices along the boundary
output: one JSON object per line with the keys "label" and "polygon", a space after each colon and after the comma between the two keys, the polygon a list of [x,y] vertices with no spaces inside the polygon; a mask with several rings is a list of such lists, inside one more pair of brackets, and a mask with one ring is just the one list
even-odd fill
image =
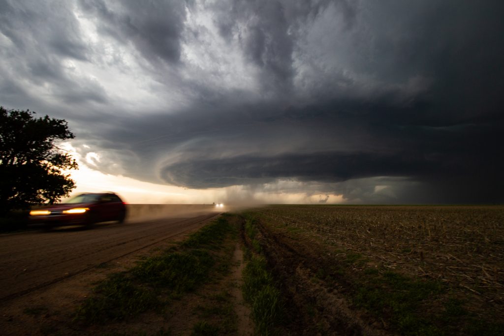
{"label": "black silhouetted leafy tree at the left edge", "polygon": [[34,114],[0,107],[0,216],[54,203],[75,187],[68,170],[77,162],[57,146],[74,138],[67,121]]}

